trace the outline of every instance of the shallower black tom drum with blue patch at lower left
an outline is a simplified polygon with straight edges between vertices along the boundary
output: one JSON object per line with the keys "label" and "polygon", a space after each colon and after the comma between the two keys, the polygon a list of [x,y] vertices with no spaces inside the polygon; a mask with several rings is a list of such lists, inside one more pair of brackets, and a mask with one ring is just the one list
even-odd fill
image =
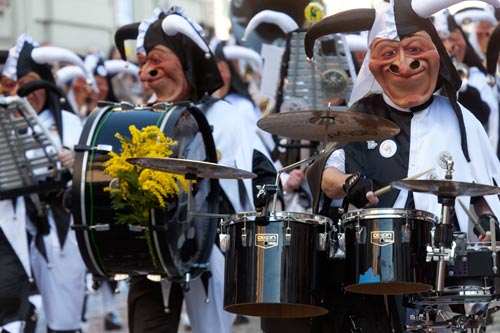
{"label": "shallower black tom drum with blue patch at lower left", "polygon": [[436,217],[421,210],[360,209],[342,216],[350,292],[412,294],[432,289],[435,263],[426,262]]}

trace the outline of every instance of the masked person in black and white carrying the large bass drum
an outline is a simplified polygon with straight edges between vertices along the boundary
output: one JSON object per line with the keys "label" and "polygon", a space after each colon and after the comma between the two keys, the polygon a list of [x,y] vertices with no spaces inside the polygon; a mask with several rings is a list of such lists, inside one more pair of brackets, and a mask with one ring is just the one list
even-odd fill
{"label": "masked person in black and white carrying the large bass drum", "polygon": [[[125,58],[123,41],[130,36],[137,37],[139,76],[155,93],[150,102],[195,103],[213,126],[219,163],[253,170],[255,157],[257,160],[266,157],[254,150],[253,143],[259,139],[244,126],[242,115],[230,104],[208,97],[223,81],[200,31],[181,7],[173,6],[168,11],[157,8],[150,20],[121,27],[115,41]],[[218,213],[254,210],[250,179],[242,183],[220,179],[219,183],[224,198]],[[177,332],[183,298],[194,332],[231,332],[235,316],[223,310],[224,257],[215,246],[210,255],[210,271],[208,291],[201,279],[192,281],[186,292],[180,284],[170,281],[163,280],[160,285],[145,277],[132,279],[128,299],[130,332]],[[210,298],[208,304],[206,293]],[[169,306],[169,313],[164,311],[165,304]]]}

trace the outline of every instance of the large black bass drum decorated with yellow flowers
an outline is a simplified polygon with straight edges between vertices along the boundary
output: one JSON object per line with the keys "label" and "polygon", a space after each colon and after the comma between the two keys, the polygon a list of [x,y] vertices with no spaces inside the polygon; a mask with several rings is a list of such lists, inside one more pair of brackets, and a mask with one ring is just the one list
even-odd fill
{"label": "large black bass drum decorated with yellow flowers", "polygon": [[[168,209],[154,210],[149,227],[115,221],[118,211],[112,208],[110,195],[104,191],[111,176],[103,173],[103,164],[109,159],[109,148],[115,153],[121,150],[115,133],[130,137],[130,125],[139,130],[155,125],[176,140],[171,157],[217,162],[210,127],[193,105],[174,104],[161,110],[110,106],[94,111],[75,147],[73,228],[82,257],[96,277],[118,279],[123,275],[150,274],[177,282],[198,278],[207,267],[217,221],[204,216],[188,218],[186,193],[181,192]],[[191,207],[197,213],[213,213],[217,198],[216,180],[198,179],[193,185]]]}

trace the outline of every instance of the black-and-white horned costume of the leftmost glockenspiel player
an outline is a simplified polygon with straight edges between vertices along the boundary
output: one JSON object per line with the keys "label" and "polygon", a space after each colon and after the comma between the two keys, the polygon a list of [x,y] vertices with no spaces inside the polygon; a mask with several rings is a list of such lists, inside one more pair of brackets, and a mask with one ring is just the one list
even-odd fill
{"label": "black-and-white horned costume of the leftmost glockenspiel player", "polygon": [[[19,36],[12,50],[6,61],[4,75],[15,81],[30,73],[35,73],[41,78],[25,83],[18,88],[17,93],[29,96],[35,90],[46,90],[45,104],[37,113],[38,124],[29,128],[28,133],[33,135],[42,131],[48,133],[53,142],[52,149],[56,149],[57,152],[60,152],[62,147],[73,147],[78,143],[81,123],[77,115],[64,109],[65,105],[61,103],[62,92],[56,87],[51,67],[47,63],[65,60],[83,68],[83,62],[67,49],[39,47],[24,34]],[[35,157],[45,153],[44,149],[39,148],[29,150],[26,154]],[[71,178],[70,170],[66,171],[67,178],[63,180]],[[34,172],[37,172],[37,169]],[[32,239],[29,260],[42,296],[49,332],[80,330],[85,293],[86,268],[80,256],[74,231],[70,229],[72,215],[63,207],[63,192],[64,189],[38,194],[27,193],[24,198],[17,200],[16,207],[16,212],[23,213],[27,217],[25,226]],[[20,205],[24,202],[26,209]],[[24,226],[24,218],[20,219],[20,222],[17,226],[19,238],[26,234],[20,229],[21,225]],[[22,254],[22,260],[26,254]]]}

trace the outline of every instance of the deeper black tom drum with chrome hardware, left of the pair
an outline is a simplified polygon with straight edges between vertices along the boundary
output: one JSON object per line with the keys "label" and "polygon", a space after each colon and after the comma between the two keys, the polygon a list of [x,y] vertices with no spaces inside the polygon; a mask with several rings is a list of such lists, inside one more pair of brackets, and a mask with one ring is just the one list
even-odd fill
{"label": "deeper black tom drum with chrome hardware, left of the pair", "polygon": [[319,254],[332,220],[313,214],[245,212],[222,222],[224,309],[269,318],[326,314],[317,295]]}

